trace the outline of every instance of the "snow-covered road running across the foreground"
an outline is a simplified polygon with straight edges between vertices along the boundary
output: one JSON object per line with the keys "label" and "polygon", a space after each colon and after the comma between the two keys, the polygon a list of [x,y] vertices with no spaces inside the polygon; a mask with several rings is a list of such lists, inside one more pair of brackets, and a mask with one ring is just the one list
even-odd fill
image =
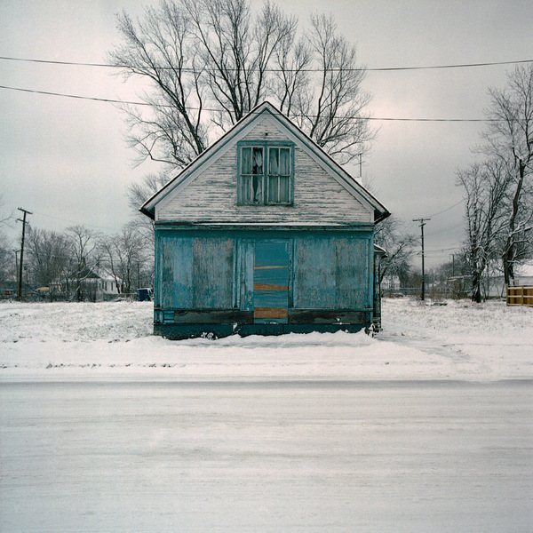
{"label": "snow-covered road running across the foreground", "polygon": [[0,385],[3,532],[533,531],[530,381]]}

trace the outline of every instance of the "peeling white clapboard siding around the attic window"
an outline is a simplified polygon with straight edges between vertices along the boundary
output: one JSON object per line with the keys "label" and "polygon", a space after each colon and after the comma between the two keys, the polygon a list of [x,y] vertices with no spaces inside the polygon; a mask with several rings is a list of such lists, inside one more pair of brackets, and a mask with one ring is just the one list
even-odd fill
{"label": "peeling white clapboard siding around the attic window", "polygon": [[[267,133],[267,135],[266,135]],[[284,140],[274,120],[260,121],[243,139]],[[294,139],[291,139],[294,140]],[[328,171],[295,145],[294,205],[237,205],[236,141],[212,158],[203,172],[163,203],[158,220],[193,223],[349,224],[372,222],[373,212],[342,187]]]}

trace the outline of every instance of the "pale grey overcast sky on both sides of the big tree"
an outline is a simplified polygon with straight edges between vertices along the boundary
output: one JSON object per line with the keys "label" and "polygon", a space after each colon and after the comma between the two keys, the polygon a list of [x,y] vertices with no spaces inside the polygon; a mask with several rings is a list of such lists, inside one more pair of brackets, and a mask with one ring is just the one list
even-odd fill
{"label": "pale grey overcast sky on both sides of the big tree", "polygon": [[[141,14],[137,0],[2,0],[0,56],[105,62],[119,42],[115,13]],[[260,2],[254,2],[260,5]],[[533,60],[530,0],[282,0],[306,25],[309,12],[332,13],[368,68]],[[503,87],[511,65],[369,72],[364,89],[376,118],[483,118],[489,86]],[[36,91],[135,99],[109,68],[0,60],[0,84]],[[33,227],[72,224],[112,233],[130,217],[127,184],[155,163],[133,168],[123,116],[111,104],[0,89],[2,211],[33,211]],[[363,173],[378,199],[418,235],[426,226],[430,266],[460,245],[457,168],[473,162],[482,123],[375,121],[379,129]],[[349,169],[354,171],[355,169]],[[454,204],[459,203],[455,207]],[[451,208],[451,209],[449,209]],[[444,211],[444,212],[441,212]],[[17,232],[17,233],[15,233]],[[12,230],[19,235],[20,224]]]}

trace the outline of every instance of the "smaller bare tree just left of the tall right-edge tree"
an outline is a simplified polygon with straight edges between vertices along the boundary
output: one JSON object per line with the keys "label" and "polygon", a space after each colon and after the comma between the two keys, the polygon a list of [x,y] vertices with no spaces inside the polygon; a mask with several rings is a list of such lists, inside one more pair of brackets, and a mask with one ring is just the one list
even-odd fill
{"label": "smaller bare tree just left of the tall right-edge tree", "polygon": [[472,299],[481,302],[482,275],[497,254],[505,225],[508,174],[505,162],[493,159],[457,171],[457,185],[466,195],[466,250],[472,275]]}

